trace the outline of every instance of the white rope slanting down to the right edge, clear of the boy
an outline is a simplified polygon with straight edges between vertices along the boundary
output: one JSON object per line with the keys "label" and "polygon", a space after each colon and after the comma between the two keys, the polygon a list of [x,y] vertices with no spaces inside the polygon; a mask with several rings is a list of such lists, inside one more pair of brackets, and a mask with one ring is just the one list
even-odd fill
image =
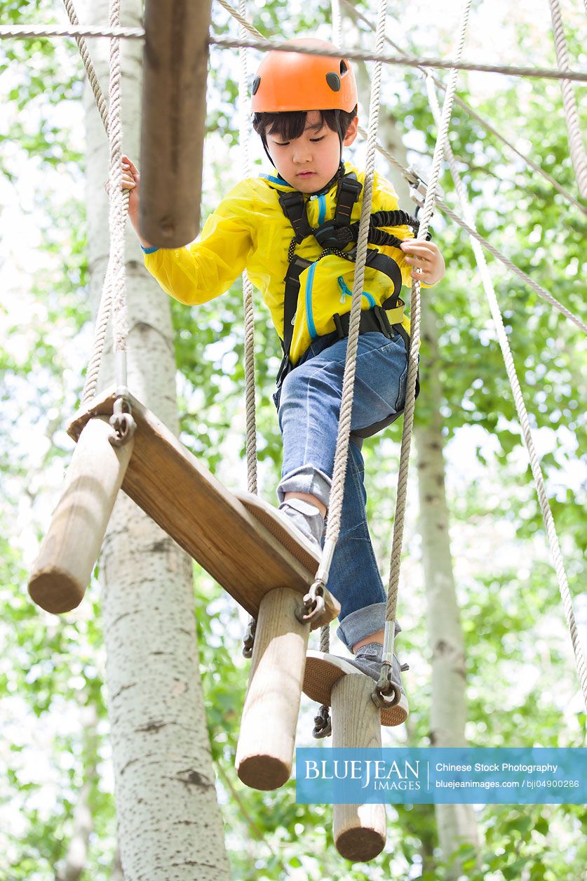
{"label": "white rope slanting down to the right edge, clear of the boy", "polygon": [[[435,119],[438,122],[440,118],[440,107],[438,106],[437,92],[435,85],[432,82],[432,78],[428,79],[427,87],[430,108]],[[451,169],[452,180],[454,181],[455,189],[457,190],[457,195],[459,196],[460,209],[465,215],[466,221],[469,226],[474,228],[475,217],[473,208],[466,196],[466,189],[463,185],[463,181],[461,181],[459,169],[452,153],[451,145],[448,142],[444,145],[444,156],[446,157],[446,160]],[[497,339],[499,340],[499,344],[502,349],[503,361],[505,363],[508,379],[510,380],[514,403],[516,404],[517,418],[520,421],[520,426],[522,426],[522,434],[524,437],[526,449],[528,450],[528,456],[530,459],[530,466],[532,468],[534,484],[536,485],[536,492],[538,494],[540,510],[542,511],[544,525],[547,529],[547,537],[550,544],[550,552],[553,558],[554,570],[556,572],[559,590],[561,592],[562,605],[565,611],[565,616],[567,618],[567,623],[569,625],[571,642],[573,645],[573,651],[575,653],[576,669],[579,674],[579,681],[583,690],[583,699],[585,700],[585,705],[587,706],[587,666],[585,664],[583,647],[581,645],[576,627],[575,612],[573,611],[573,602],[570,596],[569,582],[567,581],[567,573],[565,571],[564,560],[562,559],[561,546],[559,544],[556,527],[554,525],[554,517],[550,509],[550,505],[548,504],[544,477],[540,468],[539,456],[534,446],[532,429],[530,427],[530,421],[528,419],[528,412],[525,408],[524,396],[522,395],[522,389],[520,388],[520,383],[517,379],[516,367],[514,365],[514,359],[512,358],[510,350],[510,342],[503,327],[502,313],[499,307],[499,303],[497,301],[497,297],[495,295],[495,287],[493,285],[491,275],[488,270],[488,264],[485,260],[483,249],[481,248],[480,243],[476,241],[473,236],[471,238],[471,246],[473,248],[473,253],[475,255],[477,266],[479,268],[481,282],[488,298],[491,315],[493,316],[493,320],[495,323],[495,332],[497,333]]]}

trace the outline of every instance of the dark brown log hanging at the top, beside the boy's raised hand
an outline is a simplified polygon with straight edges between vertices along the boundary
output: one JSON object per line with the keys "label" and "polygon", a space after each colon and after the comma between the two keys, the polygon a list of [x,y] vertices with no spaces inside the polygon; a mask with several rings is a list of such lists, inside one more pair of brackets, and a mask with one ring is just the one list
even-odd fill
{"label": "dark brown log hanging at the top, beside the boy's raised hand", "polygon": [[140,229],[158,248],[200,225],[210,0],[146,0]]}

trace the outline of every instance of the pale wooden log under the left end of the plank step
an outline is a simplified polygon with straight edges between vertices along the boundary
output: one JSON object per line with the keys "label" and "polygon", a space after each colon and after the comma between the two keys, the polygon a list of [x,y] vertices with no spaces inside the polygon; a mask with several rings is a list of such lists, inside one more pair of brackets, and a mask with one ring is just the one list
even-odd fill
{"label": "pale wooden log under the left end of the plank step", "polygon": [[70,611],[84,598],[135,444],[115,448],[110,433],[106,418],[93,418],[77,441],[28,584],[41,609]]}

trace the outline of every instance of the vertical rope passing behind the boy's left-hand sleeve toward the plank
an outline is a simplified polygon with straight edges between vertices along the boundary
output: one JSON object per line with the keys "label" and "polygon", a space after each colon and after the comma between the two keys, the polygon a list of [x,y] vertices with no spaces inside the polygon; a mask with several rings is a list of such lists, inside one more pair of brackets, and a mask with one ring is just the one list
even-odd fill
{"label": "vertical rope passing behind the boy's left-hand sleeve toward the plank", "polygon": [[[246,0],[238,0],[238,12],[245,18]],[[241,39],[246,37],[246,29],[238,25]],[[251,157],[249,151],[249,119],[246,113],[248,106],[248,49],[239,48],[240,78],[238,80],[239,101],[239,140],[240,151],[245,174],[250,177]],[[248,492],[257,489],[257,429],[255,423],[255,364],[254,364],[254,310],[253,285],[243,272],[243,309],[245,314],[245,403],[246,403],[246,475]]]}

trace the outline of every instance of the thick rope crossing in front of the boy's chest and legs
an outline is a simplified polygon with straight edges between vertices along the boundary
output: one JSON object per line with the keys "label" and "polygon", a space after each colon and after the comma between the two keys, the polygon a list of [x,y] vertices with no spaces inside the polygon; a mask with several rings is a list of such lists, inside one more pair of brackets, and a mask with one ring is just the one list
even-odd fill
{"label": "thick rope crossing in front of the boy's chest and legs", "polygon": [[[386,14],[387,0],[379,0],[378,19],[375,32],[375,52],[377,54],[381,51],[384,45]],[[345,476],[347,473],[347,461],[349,457],[350,425],[353,396],[355,392],[356,350],[359,338],[359,324],[361,322],[361,300],[363,296],[365,262],[368,251],[367,246],[373,196],[373,178],[375,175],[375,144],[377,141],[379,124],[381,74],[382,63],[377,62],[374,66],[371,78],[371,102],[369,107],[367,156],[365,159],[365,175],[363,182],[363,206],[356,242],[355,278],[350,307],[347,357],[342,379],[341,413],[339,418],[338,435],[336,438],[336,451],[334,454],[333,482],[330,491],[330,504],[328,507],[327,532],[324,540],[324,549],[320,560],[319,570],[316,574],[317,580],[324,580],[324,583],[327,582],[328,572],[334,555],[334,548],[336,547],[336,542],[338,541],[341,531],[342,500],[344,495]],[[327,652],[328,647],[329,629],[325,626],[320,633],[320,651]]]}

